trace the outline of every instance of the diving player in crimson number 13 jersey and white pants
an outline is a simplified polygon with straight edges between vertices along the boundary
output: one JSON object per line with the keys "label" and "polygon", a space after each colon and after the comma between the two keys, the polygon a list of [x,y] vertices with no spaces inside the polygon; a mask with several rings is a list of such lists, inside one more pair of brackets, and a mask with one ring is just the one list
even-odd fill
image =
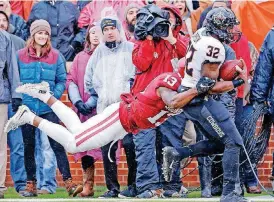
{"label": "diving player in crimson number 13 jersey and white pants", "polygon": [[122,94],[121,102],[110,105],[84,123],[80,122],[73,110],[50,94],[47,82],[24,84],[16,92],[25,93],[48,104],[66,128],[36,116],[23,105],[8,121],[5,131],[27,123],[38,127],[70,153],[99,148],[122,139],[127,133],[136,134],[140,129],[158,126],[170,115],[181,112],[180,108],[195,96],[206,93],[215,85],[214,80],[202,78],[197,87],[178,93],[181,81],[179,73],[162,74],[143,92],[135,97]]}

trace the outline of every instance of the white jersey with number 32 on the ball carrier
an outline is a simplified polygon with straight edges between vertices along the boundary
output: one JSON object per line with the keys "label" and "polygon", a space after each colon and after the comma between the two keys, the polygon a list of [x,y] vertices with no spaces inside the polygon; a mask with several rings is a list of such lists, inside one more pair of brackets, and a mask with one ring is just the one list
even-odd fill
{"label": "white jersey with number 32 on the ball carrier", "polygon": [[186,54],[185,76],[182,85],[193,88],[201,78],[202,66],[205,62],[221,64],[225,60],[223,44],[206,33],[205,28],[199,29],[192,37]]}

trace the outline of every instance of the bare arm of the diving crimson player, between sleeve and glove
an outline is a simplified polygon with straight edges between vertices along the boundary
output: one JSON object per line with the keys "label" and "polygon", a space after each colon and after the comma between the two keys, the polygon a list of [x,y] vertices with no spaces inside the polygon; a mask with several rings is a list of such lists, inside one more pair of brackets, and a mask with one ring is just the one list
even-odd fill
{"label": "bare arm of the diving crimson player, between sleeve and glove", "polygon": [[163,99],[164,103],[172,108],[179,109],[184,107],[187,103],[189,103],[194,97],[198,95],[198,91],[196,88],[189,89],[182,93],[177,93],[168,88],[158,88],[157,90],[159,96]]}

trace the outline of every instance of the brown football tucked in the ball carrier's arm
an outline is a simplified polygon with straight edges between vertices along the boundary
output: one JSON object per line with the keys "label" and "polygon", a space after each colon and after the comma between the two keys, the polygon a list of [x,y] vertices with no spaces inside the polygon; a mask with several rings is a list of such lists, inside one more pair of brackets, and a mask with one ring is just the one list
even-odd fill
{"label": "brown football tucked in the ball carrier's arm", "polygon": [[244,64],[241,60],[227,60],[220,67],[220,78],[224,81],[232,81],[239,75],[237,68],[244,68]]}

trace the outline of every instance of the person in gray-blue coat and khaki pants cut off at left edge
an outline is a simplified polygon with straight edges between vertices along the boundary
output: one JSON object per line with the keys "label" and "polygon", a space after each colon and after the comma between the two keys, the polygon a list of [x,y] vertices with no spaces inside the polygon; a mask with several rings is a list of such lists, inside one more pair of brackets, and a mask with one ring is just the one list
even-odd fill
{"label": "person in gray-blue coat and khaki pants cut off at left edge", "polygon": [[7,135],[4,125],[8,119],[8,104],[12,101],[13,111],[21,104],[21,96],[15,93],[20,85],[15,50],[10,35],[0,30],[0,198],[4,198],[6,166],[7,166]]}

